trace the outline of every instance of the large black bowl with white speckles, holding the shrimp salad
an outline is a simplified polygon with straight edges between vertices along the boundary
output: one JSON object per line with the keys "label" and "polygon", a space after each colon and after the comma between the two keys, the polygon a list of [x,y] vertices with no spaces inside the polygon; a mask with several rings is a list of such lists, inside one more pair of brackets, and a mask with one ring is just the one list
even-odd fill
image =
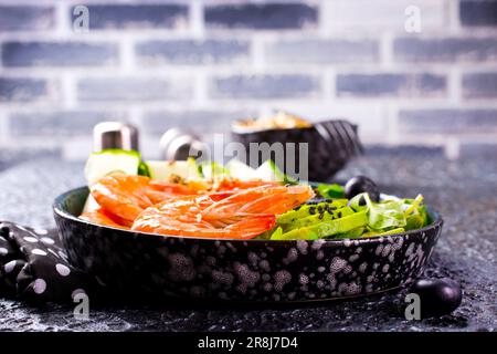
{"label": "large black bowl with white speckles, holding the shrimp salad", "polygon": [[442,218],[421,230],[359,240],[264,241],[165,237],[78,219],[87,187],[54,204],[70,261],[114,291],[135,296],[313,301],[372,294],[415,279]]}

